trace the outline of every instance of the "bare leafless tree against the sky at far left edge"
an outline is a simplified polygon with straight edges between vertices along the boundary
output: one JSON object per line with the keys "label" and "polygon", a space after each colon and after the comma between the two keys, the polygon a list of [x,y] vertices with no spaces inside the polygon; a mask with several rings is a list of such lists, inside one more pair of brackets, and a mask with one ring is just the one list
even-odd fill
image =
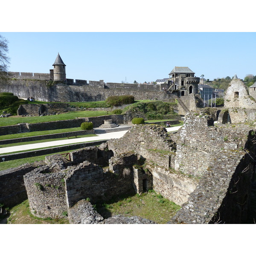
{"label": "bare leafless tree against the sky at far left edge", "polygon": [[0,35],[0,83],[6,80],[6,71],[10,63],[10,58],[7,56],[8,52],[8,41]]}

